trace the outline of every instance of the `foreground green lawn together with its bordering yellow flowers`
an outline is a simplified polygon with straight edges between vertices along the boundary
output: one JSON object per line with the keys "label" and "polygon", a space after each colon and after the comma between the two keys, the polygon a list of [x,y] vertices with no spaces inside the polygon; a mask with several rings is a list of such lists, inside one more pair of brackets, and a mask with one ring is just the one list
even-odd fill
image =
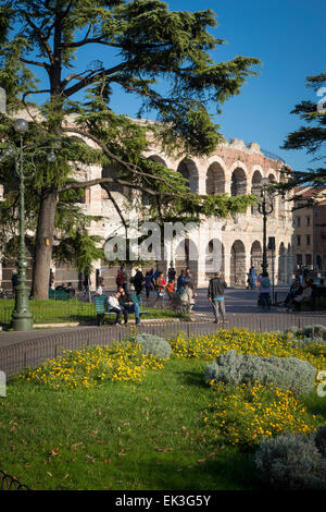
{"label": "foreground green lawn together with its bordering yellow flowers", "polygon": [[[237,349],[261,356],[296,355],[321,369],[324,348],[293,349],[278,334],[244,330],[189,340],[179,333],[170,342],[172,357],[161,359],[155,369],[147,366],[139,382],[137,371],[149,358],[126,344],[110,349],[115,366],[105,367],[100,348],[68,351],[63,359],[10,380],[7,397],[0,399],[0,470],[32,489],[261,489],[251,462],[258,428],[250,427],[250,442],[231,444],[247,420],[236,404],[225,417],[233,435],[218,434],[214,411],[223,394],[233,404],[239,388],[209,386],[208,361]],[[65,380],[73,362],[71,382],[76,380],[76,389]],[[297,417],[291,400],[286,398],[280,414],[289,420]],[[311,428],[326,424],[325,398],[314,391],[298,403],[304,405],[300,414]],[[266,407],[278,413],[277,404],[264,399],[256,410],[260,418]]]}

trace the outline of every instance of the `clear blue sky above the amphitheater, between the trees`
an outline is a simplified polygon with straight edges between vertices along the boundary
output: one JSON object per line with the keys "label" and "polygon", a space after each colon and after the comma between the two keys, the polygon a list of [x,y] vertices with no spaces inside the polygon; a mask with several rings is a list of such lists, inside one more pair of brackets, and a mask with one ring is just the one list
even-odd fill
{"label": "clear blue sky above the amphitheater, between the trees", "polygon": [[[218,26],[210,32],[227,41],[212,53],[216,62],[246,56],[256,57],[263,63],[258,68],[259,76],[249,78],[241,94],[223,106],[223,113],[216,119],[223,135],[256,142],[283,157],[294,170],[312,167],[312,156],[305,151],[285,151],[279,146],[301,124],[297,115],[290,114],[294,105],[302,99],[317,99],[305,87],[305,78],[326,71],[325,0],[171,0],[167,3],[171,10],[211,9],[216,13]],[[92,46],[83,52],[83,64],[98,56],[104,60],[99,48]],[[133,96],[120,90],[111,107],[131,117],[138,110]]]}

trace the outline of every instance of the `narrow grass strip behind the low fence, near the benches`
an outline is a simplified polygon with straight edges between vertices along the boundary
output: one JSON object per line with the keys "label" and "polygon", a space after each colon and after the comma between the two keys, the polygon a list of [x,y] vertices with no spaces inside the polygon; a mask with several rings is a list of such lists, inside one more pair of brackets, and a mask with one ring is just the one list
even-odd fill
{"label": "narrow grass strip behind the low fence, near the benches", "polygon": [[[2,298],[0,300],[0,324],[9,325],[11,321],[12,312],[14,308],[14,301]],[[95,304],[71,301],[29,301],[29,309],[33,314],[34,324],[61,324],[61,322],[95,322],[97,321],[97,312]],[[176,318],[180,315],[170,309],[154,309],[142,307],[149,314],[146,318]],[[112,314],[109,318],[114,319],[115,315]],[[130,315],[134,318],[135,315]]]}

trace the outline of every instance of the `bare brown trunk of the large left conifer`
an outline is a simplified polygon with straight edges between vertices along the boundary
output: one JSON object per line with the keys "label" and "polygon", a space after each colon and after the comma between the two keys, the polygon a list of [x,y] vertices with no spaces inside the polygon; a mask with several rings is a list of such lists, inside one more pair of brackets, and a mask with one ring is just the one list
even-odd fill
{"label": "bare brown trunk of the large left conifer", "polygon": [[50,266],[52,258],[52,237],[58,205],[58,193],[46,193],[38,214],[35,261],[33,271],[33,291],[35,298],[47,300],[49,296]]}

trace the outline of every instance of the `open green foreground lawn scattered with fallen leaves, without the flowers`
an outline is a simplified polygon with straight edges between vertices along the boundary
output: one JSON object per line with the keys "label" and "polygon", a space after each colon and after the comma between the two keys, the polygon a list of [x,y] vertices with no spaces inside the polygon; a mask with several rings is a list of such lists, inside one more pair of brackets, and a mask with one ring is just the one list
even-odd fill
{"label": "open green foreground lawn scattered with fallen leaves, without the flowers", "polygon": [[248,455],[204,441],[204,365],[172,359],[141,385],[88,390],[9,385],[1,470],[33,489],[254,488]]}

